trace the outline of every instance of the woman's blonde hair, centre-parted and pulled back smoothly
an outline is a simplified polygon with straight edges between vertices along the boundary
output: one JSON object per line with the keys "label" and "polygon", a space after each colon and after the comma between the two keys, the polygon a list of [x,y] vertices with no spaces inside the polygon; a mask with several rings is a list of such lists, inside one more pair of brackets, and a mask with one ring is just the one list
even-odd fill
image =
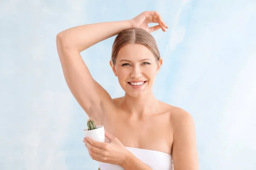
{"label": "woman's blonde hair, centre-parted and pulled back smoothly", "polygon": [[145,45],[154,54],[155,59],[160,61],[160,53],[154,37],[142,28],[129,28],[120,32],[113,42],[111,54],[113,65],[116,64],[119,50],[129,43]]}

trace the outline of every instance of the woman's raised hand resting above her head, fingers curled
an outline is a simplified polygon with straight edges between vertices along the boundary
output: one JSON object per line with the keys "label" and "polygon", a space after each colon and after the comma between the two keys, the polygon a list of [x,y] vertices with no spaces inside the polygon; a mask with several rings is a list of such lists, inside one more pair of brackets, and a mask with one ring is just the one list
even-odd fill
{"label": "woman's raised hand resting above her head, fingers curled", "polygon": [[[133,28],[143,28],[149,33],[157,31],[160,28],[162,28],[163,31],[166,31],[165,28],[169,28],[166,23],[163,22],[162,17],[157,11],[144,11],[131,19],[130,22]],[[158,23],[158,25],[148,27],[148,23]]]}

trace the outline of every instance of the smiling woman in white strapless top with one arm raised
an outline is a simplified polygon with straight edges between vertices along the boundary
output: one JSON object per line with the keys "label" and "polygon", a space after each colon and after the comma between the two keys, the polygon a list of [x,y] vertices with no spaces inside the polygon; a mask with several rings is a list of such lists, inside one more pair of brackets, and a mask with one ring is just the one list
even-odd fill
{"label": "smiling woman in white strapless top with one arm raised", "polygon": [[[77,26],[56,37],[70,91],[87,115],[105,127],[106,142],[84,138],[101,170],[198,170],[192,116],[152,92],[163,61],[150,33],[166,28],[157,11],[144,11],[131,20]],[[80,52],[117,34],[110,65],[125,95],[112,99]]]}

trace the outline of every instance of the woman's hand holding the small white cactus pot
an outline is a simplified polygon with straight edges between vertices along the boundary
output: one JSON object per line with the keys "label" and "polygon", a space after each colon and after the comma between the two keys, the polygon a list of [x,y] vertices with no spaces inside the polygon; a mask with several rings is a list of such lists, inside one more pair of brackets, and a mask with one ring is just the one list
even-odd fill
{"label": "woman's hand holding the small white cactus pot", "polygon": [[122,165],[125,159],[131,154],[125,146],[105,130],[105,136],[111,143],[98,142],[90,137],[85,137],[83,142],[88,149],[89,155],[93,160]]}

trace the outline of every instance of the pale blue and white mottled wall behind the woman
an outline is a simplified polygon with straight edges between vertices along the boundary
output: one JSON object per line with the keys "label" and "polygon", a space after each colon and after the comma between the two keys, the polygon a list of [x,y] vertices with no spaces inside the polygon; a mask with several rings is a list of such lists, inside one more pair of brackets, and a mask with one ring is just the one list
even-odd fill
{"label": "pale blue and white mottled wall behind the woman", "polygon": [[[163,58],[154,94],[193,116],[200,170],[256,169],[256,0],[2,0],[1,170],[98,168],[56,35],[154,10],[169,26],[152,33]],[[124,94],[109,65],[114,38],[81,53],[113,98]]]}

